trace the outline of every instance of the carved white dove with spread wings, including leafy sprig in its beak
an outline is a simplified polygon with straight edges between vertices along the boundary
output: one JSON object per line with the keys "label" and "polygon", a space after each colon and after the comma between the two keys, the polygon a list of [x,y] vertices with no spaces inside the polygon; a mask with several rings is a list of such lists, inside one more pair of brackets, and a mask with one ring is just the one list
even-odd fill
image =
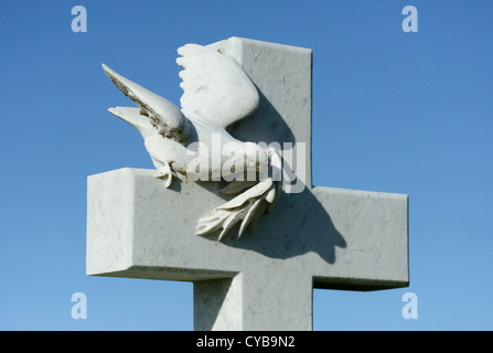
{"label": "carved white dove with spread wings, including leafy sprig in its beak", "polygon": [[[173,176],[190,178],[195,173],[200,173],[202,180],[205,173],[207,180],[222,175],[231,181],[238,176],[238,171],[223,168],[226,162],[242,165],[238,168],[242,175],[251,169],[261,172],[261,167],[268,165],[268,178],[257,181],[254,186],[251,182],[233,180],[224,193],[242,193],[199,222],[197,234],[205,235],[222,228],[221,240],[242,221],[239,237],[248,224],[274,206],[280,191],[280,182],[272,178],[279,175],[280,170],[277,151],[239,141],[226,131],[228,125],[257,109],[259,94],[235,60],[197,44],[186,44],[178,53],[176,63],[184,68],[179,74],[182,78],[180,86],[184,90],[180,99],[181,109],[103,64],[112,83],[137,105],[137,108],[115,107],[108,110],[142,135],[146,149],[167,188]],[[212,160],[213,156],[208,153],[213,143],[221,146],[221,161]],[[191,153],[192,146],[197,147],[196,153]],[[200,171],[190,168],[196,154]]]}

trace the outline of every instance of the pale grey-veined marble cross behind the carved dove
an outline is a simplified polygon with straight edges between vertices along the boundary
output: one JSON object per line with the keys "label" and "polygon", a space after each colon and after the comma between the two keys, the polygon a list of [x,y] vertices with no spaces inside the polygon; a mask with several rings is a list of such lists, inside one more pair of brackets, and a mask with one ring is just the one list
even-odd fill
{"label": "pale grey-veined marble cross behind the carved dove", "polygon": [[195,330],[312,330],[313,288],[408,286],[407,195],[311,184],[311,50],[239,38],[211,45],[260,92],[232,135],[294,143],[304,158],[290,167],[302,180],[285,181],[291,192],[255,232],[217,242],[195,235],[199,217],[225,202],[217,182],[165,189],[154,170],[128,168],[90,175],[87,274],[192,281]]}

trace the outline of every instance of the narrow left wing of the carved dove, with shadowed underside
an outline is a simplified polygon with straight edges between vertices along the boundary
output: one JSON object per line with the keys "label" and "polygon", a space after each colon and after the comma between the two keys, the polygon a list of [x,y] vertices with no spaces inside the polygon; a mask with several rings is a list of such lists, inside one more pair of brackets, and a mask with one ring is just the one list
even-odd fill
{"label": "narrow left wing of the carved dove, with shadowed underside", "polygon": [[117,107],[110,110],[112,114],[135,126],[141,125],[142,118],[147,117],[163,137],[178,142],[186,141],[190,131],[189,121],[174,104],[121,76],[105,64],[103,68],[109,79],[140,108],[140,117],[136,114],[136,108]]}

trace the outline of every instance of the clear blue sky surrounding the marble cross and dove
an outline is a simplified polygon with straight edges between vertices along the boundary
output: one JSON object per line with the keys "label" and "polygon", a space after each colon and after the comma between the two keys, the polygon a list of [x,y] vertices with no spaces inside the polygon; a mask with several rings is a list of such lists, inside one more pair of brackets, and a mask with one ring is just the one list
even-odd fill
{"label": "clear blue sky surrounding the marble cross and dove", "polygon": [[[74,33],[74,6],[87,32]],[[401,9],[418,10],[405,33]],[[315,330],[493,329],[491,1],[2,1],[0,329],[192,330],[192,284],[85,275],[86,178],[152,168],[100,64],[179,103],[185,43],[313,50],[313,181],[409,194],[409,288],[314,290]],[[403,295],[418,298],[405,320]],[[71,315],[87,297],[87,319]]]}

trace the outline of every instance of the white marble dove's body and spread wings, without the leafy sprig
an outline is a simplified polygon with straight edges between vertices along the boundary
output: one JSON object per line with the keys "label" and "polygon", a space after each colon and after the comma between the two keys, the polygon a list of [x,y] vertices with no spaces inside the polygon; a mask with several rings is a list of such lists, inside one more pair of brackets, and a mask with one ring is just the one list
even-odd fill
{"label": "white marble dove's body and spread wings, without the leafy sprig", "polygon": [[[181,47],[179,53],[186,54],[187,51],[207,54],[205,55],[206,65],[211,65],[211,62],[217,58],[224,60],[222,54],[194,44]],[[196,56],[191,55],[191,57],[178,60],[179,64],[185,68],[180,73],[180,76],[184,78],[181,86],[185,90],[181,99],[182,109],[103,64],[111,82],[137,105],[136,108],[115,107],[108,110],[142,135],[152,163],[160,172],[159,178],[167,180],[167,188],[170,186],[172,176],[186,175],[192,180],[202,181],[223,178],[231,181],[243,180],[247,171],[267,170],[269,159],[262,148],[253,142],[239,141],[225,129],[226,125],[237,121],[242,115],[255,111],[258,105],[258,93],[255,86],[236,62],[227,58],[223,63],[226,72],[235,73],[236,69],[238,74],[243,74],[233,75],[232,84],[236,88],[233,95],[237,95],[238,90],[239,94],[242,92],[244,94],[242,101],[236,105],[231,103],[225,105],[224,101],[227,99],[222,96],[229,97],[232,93],[219,90],[207,96],[207,90],[211,89],[200,84],[211,78],[224,81],[224,77],[217,77],[217,74],[205,78],[195,77],[197,75],[193,67],[196,64]],[[199,84],[194,85],[193,83],[196,82]],[[246,89],[242,89],[242,86],[246,86]],[[195,95],[195,99],[191,100],[191,95]],[[217,101],[217,105],[211,107],[210,104],[204,103],[205,100]],[[251,175],[251,172],[248,175]]]}

